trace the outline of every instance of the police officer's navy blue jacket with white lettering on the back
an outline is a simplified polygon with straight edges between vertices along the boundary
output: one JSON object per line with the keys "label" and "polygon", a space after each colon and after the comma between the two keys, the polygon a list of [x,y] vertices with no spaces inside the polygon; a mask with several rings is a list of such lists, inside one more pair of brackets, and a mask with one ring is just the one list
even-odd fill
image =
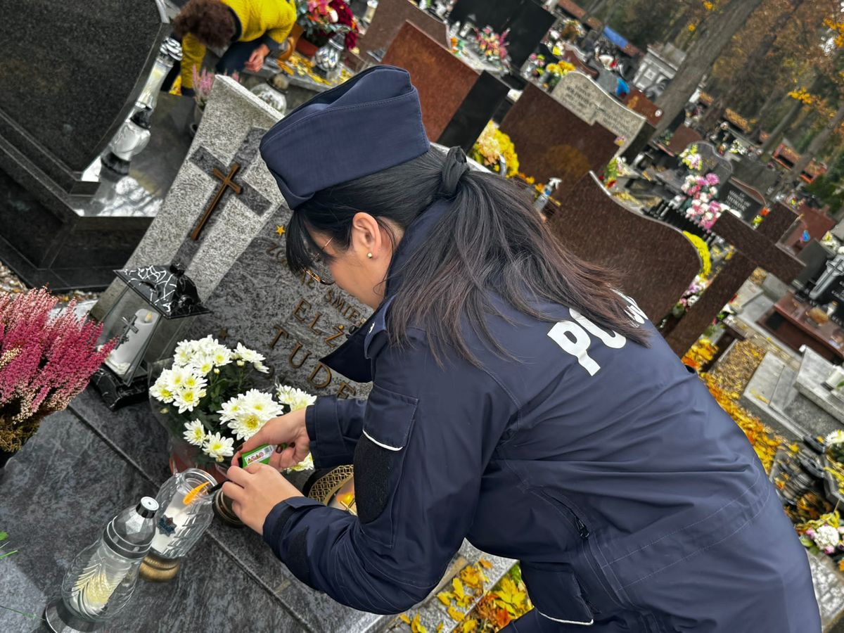
{"label": "police officer's navy blue jacket with white lettering on the back", "polygon": [[[435,203],[393,266],[424,242]],[[358,516],[293,498],[263,535],[301,581],[396,614],[424,600],[463,538],[520,560],[546,618],[593,630],[820,630],[809,565],[744,433],[629,300],[649,346],[564,306],[494,299],[480,360],[438,365],[425,330],[387,341],[393,280],[326,362],[366,400],[306,413],[317,468],[354,463]],[[625,297],[625,300],[627,298]]]}

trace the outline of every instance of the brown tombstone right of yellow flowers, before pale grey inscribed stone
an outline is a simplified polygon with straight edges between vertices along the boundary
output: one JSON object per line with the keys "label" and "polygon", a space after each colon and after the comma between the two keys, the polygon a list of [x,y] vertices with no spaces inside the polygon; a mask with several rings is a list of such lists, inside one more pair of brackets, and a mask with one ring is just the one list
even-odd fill
{"label": "brown tombstone right of yellow flowers, before pale grey inscribed stone", "polygon": [[589,171],[603,172],[619,149],[615,133],[587,123],[533,84],[527,84],[501,130],[516,146],[522,173],[538,182],[560,178],[554,194],[560,200]]}

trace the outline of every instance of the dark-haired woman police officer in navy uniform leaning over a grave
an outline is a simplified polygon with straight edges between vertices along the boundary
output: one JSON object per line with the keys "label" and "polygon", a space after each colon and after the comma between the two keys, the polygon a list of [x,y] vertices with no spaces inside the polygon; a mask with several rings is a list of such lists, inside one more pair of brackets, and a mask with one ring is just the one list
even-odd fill
{"label": "dark-haired woman police officer in navy uniform leaning over a grave", "polygon": [[244,446],[288,444],[277,468],[354,460],[358,516],[262,464],[225,484],[295,576],[399,613],[468,538],[522,562],[536,609],[512,630],[820,631],[742,431],[523,192],[430,149],[407,73],[361,73],[261,151],[295,209],[289,266],[376,309],[325,360],[369,398],[320,398]]}

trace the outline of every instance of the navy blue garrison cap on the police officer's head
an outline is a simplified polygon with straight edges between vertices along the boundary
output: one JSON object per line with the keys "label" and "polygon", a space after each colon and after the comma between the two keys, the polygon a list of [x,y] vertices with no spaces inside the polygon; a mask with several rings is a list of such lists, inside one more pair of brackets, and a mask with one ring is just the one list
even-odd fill
{"label": "navy blue garrison cap on the police officer's head", "polygon": [[261,156],[290,208],[327,187],[401,165],[430,149],[419,93],[403,68],[376,66],[276,123]]}

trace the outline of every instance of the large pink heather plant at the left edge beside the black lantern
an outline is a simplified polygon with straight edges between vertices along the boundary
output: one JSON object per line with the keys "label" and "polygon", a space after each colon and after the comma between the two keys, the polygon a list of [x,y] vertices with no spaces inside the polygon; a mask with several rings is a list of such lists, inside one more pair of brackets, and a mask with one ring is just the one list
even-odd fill
{"label": "large pink heather plant at the left edge beside the black lantern", "polygon": [[102,326],[73,313],[59,317],[46,289],[0,295],[0,449],[17,451],[47,414],[68,403],[114,347],[96,349]]}

